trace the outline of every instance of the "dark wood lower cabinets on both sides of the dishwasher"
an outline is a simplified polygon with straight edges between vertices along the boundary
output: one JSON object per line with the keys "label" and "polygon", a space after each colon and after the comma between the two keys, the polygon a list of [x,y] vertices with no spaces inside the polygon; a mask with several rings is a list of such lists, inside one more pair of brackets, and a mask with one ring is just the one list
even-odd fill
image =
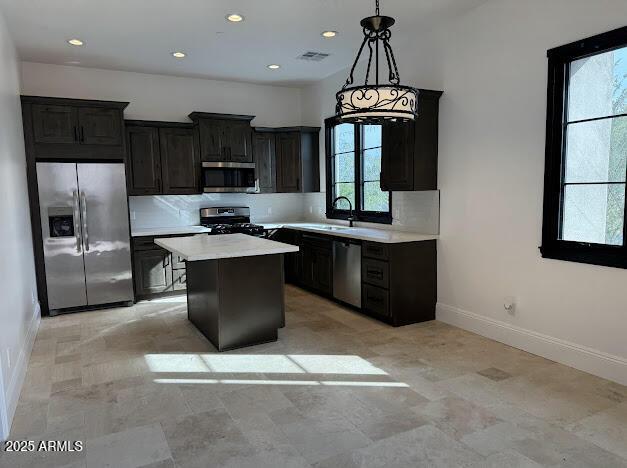
{"label": "dark wood lower cabinets on both sides of the dishwasher", "polygon": [[[285,255],[287,283],[333,297],[333,236],[280,229],[271,238],[300,248]],[[395,327],[434,320],[436,241],[362,242],[361,281],[364,314]]]}

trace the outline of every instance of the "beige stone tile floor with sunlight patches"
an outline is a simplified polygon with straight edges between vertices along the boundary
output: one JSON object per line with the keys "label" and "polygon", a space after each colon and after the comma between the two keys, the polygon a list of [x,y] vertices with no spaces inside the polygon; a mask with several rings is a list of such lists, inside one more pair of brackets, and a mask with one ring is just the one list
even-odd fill
{"label": "beige stone tile floor with sunlight patches", "polygon": [[627,467],[627,388],[287,289],[279,341],[217,354],[184,298],[42,321],[2,467]]}

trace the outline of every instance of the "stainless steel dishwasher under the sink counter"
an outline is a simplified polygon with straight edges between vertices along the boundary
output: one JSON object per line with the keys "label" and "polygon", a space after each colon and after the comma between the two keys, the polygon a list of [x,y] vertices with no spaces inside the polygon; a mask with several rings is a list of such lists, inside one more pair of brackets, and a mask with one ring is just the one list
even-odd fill
{"label": "stainless steel dishwasher under the sink counter", "polygon": [[333,242],[333,297],[361,307],[361,244],[358,241]]}

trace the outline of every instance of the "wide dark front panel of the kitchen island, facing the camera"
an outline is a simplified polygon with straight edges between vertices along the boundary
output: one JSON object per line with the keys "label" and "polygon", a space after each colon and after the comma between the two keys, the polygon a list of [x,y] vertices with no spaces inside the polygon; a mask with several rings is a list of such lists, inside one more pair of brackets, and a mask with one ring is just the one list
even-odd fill
{"label": "wide dark front panel of the kitchen island, facing the camera", "polygon": [[219,260],[220,351],[277,340],[283,322],[283,255]]}

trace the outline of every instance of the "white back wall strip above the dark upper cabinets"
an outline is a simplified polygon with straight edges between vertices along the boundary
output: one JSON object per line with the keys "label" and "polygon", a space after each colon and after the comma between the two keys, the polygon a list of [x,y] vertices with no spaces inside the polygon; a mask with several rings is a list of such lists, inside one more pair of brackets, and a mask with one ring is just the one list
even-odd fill
{"label": "white back wall strip above the dark upper cabinets", "polygon": [[255,115],[253,125],[298,125],[300,90],[281,86],[22,63],[22,93],[128,101],[127,119],[188,121],[192,111]]}

